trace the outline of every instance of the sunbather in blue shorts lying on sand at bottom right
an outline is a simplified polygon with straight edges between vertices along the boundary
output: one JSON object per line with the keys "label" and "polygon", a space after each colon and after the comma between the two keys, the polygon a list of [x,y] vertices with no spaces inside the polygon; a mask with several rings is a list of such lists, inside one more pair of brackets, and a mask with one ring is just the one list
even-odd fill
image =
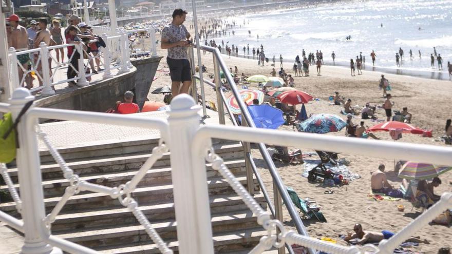
{"label": "sunbather in blue shorts lying on sand at bottom right", "polygon": [[[350,243],[350,240],[352,239],[360,239],[355,242],[357,244],[379,243],[381,240],[389,239],[394,235],[393,232],[388,230],[383,230],[381,232],[363,231],[363,226],[359,223],[356,223],[353,226],[353,231],[354,233],[348,233],[347,237],[344,238],[348,243]],[[419,237],[410,237],[405,242],[429,244],[427,240],[421,240]]]}

